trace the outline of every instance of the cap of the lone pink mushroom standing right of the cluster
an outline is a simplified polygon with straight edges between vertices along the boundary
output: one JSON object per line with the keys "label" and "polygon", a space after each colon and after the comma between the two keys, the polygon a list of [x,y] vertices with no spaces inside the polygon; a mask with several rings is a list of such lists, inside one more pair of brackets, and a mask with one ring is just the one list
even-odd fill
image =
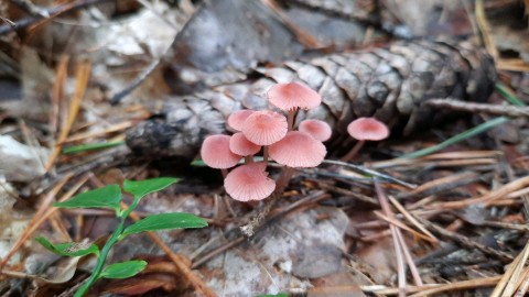
{"label": "cap of the lone pink mushroom standing right of the cluster", "polygon": [[380,141],[389,136],[388,127],[375,118],[358,118],[347,125],[349,135],[359,141]]}

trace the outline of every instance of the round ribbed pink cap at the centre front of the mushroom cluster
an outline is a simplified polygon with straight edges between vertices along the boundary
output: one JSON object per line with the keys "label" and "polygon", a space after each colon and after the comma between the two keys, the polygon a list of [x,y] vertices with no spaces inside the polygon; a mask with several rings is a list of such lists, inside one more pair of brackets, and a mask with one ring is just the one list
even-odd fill
{"label": "round ribbed pink cap at the centre front of the mushroom cluster", "polygon": [[287,118],[271,110],[255,111],[242,127],[245,136],[258,145],[270,145],[287,134]]}

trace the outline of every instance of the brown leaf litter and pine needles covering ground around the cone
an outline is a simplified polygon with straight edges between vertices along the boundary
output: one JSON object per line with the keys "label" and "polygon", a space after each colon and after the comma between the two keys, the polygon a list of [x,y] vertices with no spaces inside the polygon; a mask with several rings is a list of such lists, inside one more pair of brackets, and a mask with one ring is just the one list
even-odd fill
{"label": "brown leaf litter and pine needles covering ground around the cone", "polygon": [[[527,138],[505,139],[504,132],[496,131],[434,155],[395,158],[489,119],[483,113],[471,120],[457,118],[452,125],[433,131],[369,145],[355,160],[359,166],[406,184],[374,182],[366,172],[336,164],[298,172],[283,199],[250,239],[234,230],[245,223],[245,215],[259,206],[229,200],[214,172],[190,167],[185,161],[160,162],[132,155],[125,146],[48,157],[57,150],[56,144],[122,139],[127,128],[155,114],[160,103],[174,92],[195,92],[263,72],[282,78],[284,74],[272,73],[268,65],[360,44],[376,46],[387,41],[386,34],[399,32],[399,25],[407,26],[410,34],[453,36],[477,30],[471,26],[473,18],[482,18],[478,24],[487,18],[492,41],[499,50],[500,79],[515,88],[521,101],[528,101],[523,88],[527,44],[522,38],[512,38],[518,36],[512,26],[498,24],[503,20],[498,15],[505,15],[520,1],[483,1],[484,6],[476,9],[485,10],[485,16],[460,1],[435,2],[422,15],[412,9],[413,1],[400,7],[382,1],[381,16],[391,16],[391,21],[373,19],[377,10],[366,3],[370,1],[358,1],[364,2],[360,8],[365,12],[348,9],[344,7],[348,3],[339,1],[197,2],[181,1],[180,7],[148,3],[119,18],[112,15],[119,11],[105,7],[83,8],[77,16],[45,20],[37,28],[7,35],[18,36],[7,54],[19,63],[20,80],[12,72],[2,72],[0,80],[14,79],[18,84],[9,86],[22,91],[0,98],[0,128],[9,132],[1,139],[11,145],[0,165],[2,277],[8,280],[2,282],[2,294],[67,293],[86,277],[90,261],[52,258],[36,248],[30,234],[72,237],[77,242],[86,238],[105,241],[111,228],[105,223],[109,213],[57,212],[48,206],[55,196],[65,199],[78,188],[100,186],[101,179],[119,168],[120,175],[129,179],[168,175],[183,179],[149,197],[147,206],[133,215],[134,220],[145,213],[187,211],[207,218],[212,227],[131,237],[115,254],[115,261],[159,262],[133,279],[101,284],[98,292],[186,296],[206,286],[219,296],[282,292],[309,296],[404,292],[411,296],[523,296],[529,287]],[[226,34],[205,34],[212,24],[219,30],[223,20],[230,20],[229,9],[237,10],[240,18],[227,24]],[[408,18],[409,13],[414,18]],[[18,15],[7,14],[13,22],[21,20]],[[310,15],[315,15],[316,25],[306,23]],[[388,24],[391,30],[387,30]],[[346,25],[350,30],[335,30]],[[75,33],[64,34],[68,30]],[[253,42],[241,44],[246,37]],[[50,38],[56,38],[55,47],[50,45]],[[217,44],[217,51],[210,44]],[[17,46],[25,48],[22,54],[13,55]],[[57,64],[61,56],[68,56],[62,68]],[[79,65],[89,67],[88,75],[76,73]],[[147,73],[140,87],[120,105],[110,105],[109,99],[130,87],[131,80],[149,70],[150,65],[154,70]],[[83,79],[86,84],[79,84]],[[56,91],[48,91],[54,88]],[[20,98],[13,99],[13,94]],[[497,94],[493,95],[490,102],[500,101]],[[17,123],[21,119],[28,121],[36,144],[28,138],[24,125]],[[53,122],[56,130],[48,130]],[[514,121],[509,129],[526,135],[526,123],[525,119]],[[337,155],[339,152],[333,156]],[[380,195],[387,198],[384,211],[377,202]],[[417,268],[421,282],[409,267]],[[35,277],[60,286],[50,290],[39,282],[18,282]]]}

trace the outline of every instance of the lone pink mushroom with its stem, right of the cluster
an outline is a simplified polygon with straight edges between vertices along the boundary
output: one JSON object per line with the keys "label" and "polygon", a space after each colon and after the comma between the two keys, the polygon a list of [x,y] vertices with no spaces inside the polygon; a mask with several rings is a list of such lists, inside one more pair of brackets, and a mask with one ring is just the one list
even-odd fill
{"label": "lone pink mushroom with its stem, right of the cluster", "polygon": [[364,146],[366,141],[381,141],[389,136],[388,127],[375,118],[358,118],[347,125],[347,132],[358,142],[342,157],[342,161],[352,160]]}

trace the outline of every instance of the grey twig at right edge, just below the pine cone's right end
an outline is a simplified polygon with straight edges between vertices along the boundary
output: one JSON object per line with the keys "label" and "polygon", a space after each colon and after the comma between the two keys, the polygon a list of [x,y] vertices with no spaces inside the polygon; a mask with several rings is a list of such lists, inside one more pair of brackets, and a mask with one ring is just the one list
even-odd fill
{"label": "grey twig at right edge, just below the pine cone's right end", "polygon": [[455,99],[430,99],[425,101],[425,103],[435,108],[446,108],[466,112],[483,112],[510,118],[529,117],[529,107],[475,103]]}

